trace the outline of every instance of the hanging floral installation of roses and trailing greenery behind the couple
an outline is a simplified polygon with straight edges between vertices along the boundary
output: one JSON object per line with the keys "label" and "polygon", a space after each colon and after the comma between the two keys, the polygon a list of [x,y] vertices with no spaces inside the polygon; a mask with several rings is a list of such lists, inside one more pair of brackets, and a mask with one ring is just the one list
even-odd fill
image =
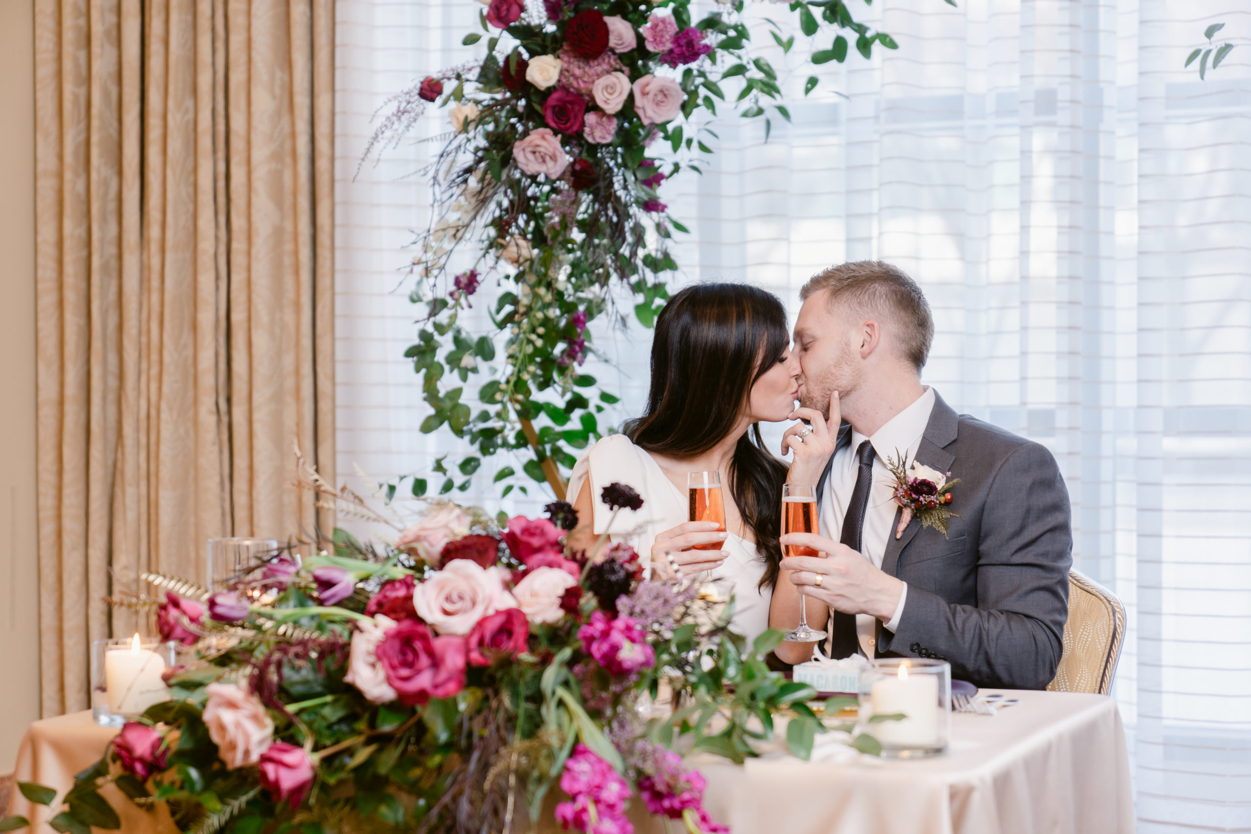
{"label": "hanging floral installation of roses and trailing greenery behind the couple", "polygon": [[[579,370],[593,350],[587,326],[612,310],[613,288],[633,294],[644,326],[668,298],[664,275],[678,268],[668,241],[687,229],[667,214],[662,186],[683,168],[701,173],[699,156],[712,153],[703,139],[716,134],[697,111],[763,119],[766,138],[769,114],[791,119],[778,73],[752,55],[743,9],[743,0],[726,3],[694,20],[691,0],[489,0],[482,33],[463,41],[485,36],[485,56],[393,100],[365,156],[399,141],[428,104],[450,105],[452,138],[429,169],[433,220],[413,258],[410,299],[427,305],[425,318],[405,354],[430,406],[422,431],[448,425],[474,448],[455,464],[459,475],[439,459],[439,494],[468,489],[483,456],[513,450],[524,453],[530,479],[564,498],[570,449],[600,436],[598,415],[617,401],[604,390],[593,401],[598,383]],[[874,44],[897,48],[843,0],[789,9],[804,36],[829,44],[812,53],[813,64],[843,61],[848,36],[864,58]],[[793,35],[772,35],[784,53],[794,46]],[[817,85],[808,78],[804,95]],[[658,141],[673,161],[649,156]],[[453,275],[452,258],[464,249],[473,265]],[[489,311],[493,331],[474,336],[460,314],[492,274],[505,289]],[[497,336],[498,368],[488,365]],[[487,376],[477,415],[464,389],[472,374]],[[540,418],[547,425],[535,428]],[[517,474],[497,473],[504,495],[525,490]],[[414,495],[428,490],[427,478],[413,476]]]}

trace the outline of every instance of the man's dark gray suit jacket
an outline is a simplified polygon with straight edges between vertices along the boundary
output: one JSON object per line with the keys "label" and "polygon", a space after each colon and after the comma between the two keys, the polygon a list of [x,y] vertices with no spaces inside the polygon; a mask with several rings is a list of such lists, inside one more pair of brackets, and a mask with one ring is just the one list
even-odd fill
{"label": "man's dark gray suit jacket", "polygon": [[[1068,490],[1046,448],[956,414],[934,394],[916,460],[960,479],[950,509],[961,518],[948,519],[946,538],[912,519],[887,540],[882,570],[908,583],[908,598],[898,630],[881,630],[878,656],[941,658],[978,686],[1043,689],[1068,616]],[[818,503],[832,466],[831,456]]]}

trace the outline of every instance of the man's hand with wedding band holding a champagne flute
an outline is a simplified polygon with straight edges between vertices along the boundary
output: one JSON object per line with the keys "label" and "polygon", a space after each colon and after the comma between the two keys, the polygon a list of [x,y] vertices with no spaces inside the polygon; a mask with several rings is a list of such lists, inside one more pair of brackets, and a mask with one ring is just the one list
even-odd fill
{"label": "man's hand with wedding band holding a champagne flute", "polygon": [[793,571],[791,581],[801,594],[819,599],[844,614],[872,614],[883,623],[889,623],[894,616],[903,594],[903,583],[874,568],[861,554],[844,544],[811,533],[788,533],[782,536],[782,544],[828,554],[826,559],[787,556],[782,560],[782,570]]}

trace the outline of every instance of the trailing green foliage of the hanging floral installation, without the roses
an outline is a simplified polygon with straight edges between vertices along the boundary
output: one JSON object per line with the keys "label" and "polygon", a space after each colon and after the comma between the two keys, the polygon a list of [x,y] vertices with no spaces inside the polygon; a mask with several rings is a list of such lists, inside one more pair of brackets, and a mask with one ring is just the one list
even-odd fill
{"label": "trailing green foliage of the hanging floral installation, without the roses", "polygon": [[[464,460],[480,463],[497,454],[519,460],[494,475],[493,483],[499,484],[502,494],[523,488],[524,481],[519,480],[523,476],[549,481],[552,473],[544,470],[544,461],[554,461],[558,471],[567,473],[577,459],[574,453],[602,436],[598,424],[587,428],[584,418],[594,418],[603,410],[600,404],[615,403],[617,398],[600,389],[599,404],[594,404],[595,398],[575,399],[570,393],[580,379],[580,358],[595,350],[585,325],[617,315],[607,290],[615,286],[632,293],[634,298],[627,309],[633,309],[644,328],[654,326],[668,299],[666,281],[678,269],[669,241],[674,233],[687,233],[687,228],[649,208],[662,196],[658,191],[662,185],[652,178],[659,173],[672,178],[683,166],[697,173],[701,169],[687,158],[679,158],[664,171],[658,163],[644,165],[648,145],[656,138],[653,131],[658,129],[659,138],[681,156],[713,153],[702,135],[696,135],[703,129],[697,131],[689,121],[701,108],[711,115],[721,106],[732,108],[741,118],[763,118],[766,139],[772,133],[771,115],[791,120],[777,69],[752,54],[753,33],[741,14],[741,4],[717,6],[698,20],[692,16],[696,9],[691,0],[672,0],[667,5],[679,26],[697,26],[704,33],[704,43],[712,46],[706,60],[688,65],[682,73],[681,88],[687,95],[682,116],[659,126],[643,125],[633,105],[627,104],[617,116],[618,130],[612,143],[578,146],[582,160],[592,166],[595,185],[575,195],[563,181],[529,176],[514,164],[513,144],[530,130],[545,126],[542,106],[548,94],[532,85],[517,90],[504,86],[504,69],[515,70],[520,56],[559,53],[564,20],[555,25],[514,24],[508,34],[517,48],[508,46],[510,51],[504,51],[499,40],[490,38],[480,71],[457,73],[445,81],[448,85],[454,81],[454,89],[442,104],[472,101],[479,115],[468,134],[459,134],[448,144],[443,159],[454,165],[440,164],[433,174],[440,196],[435,223],[417,241],[422,254],[414,259],[418,285],[410,295],[423,306],[424,315],[417,341],[404,355],[422,376],[429,408],[420,424],[423,433],[450,429],[472,448]],[[613,6],[613,13],[636,29],[647,23],[652,11],[653,6],[647,4]],[[796,0],[791,11],[803,38],[832,44],[812,54],[814,64],[846,60],[848,39],[839,33],[854,36],[864,58],[871,56],[873,44],[897,48],[888,34],[871,31],[837,0]],[[479,21],[484,33],[498,31],[480,15]],[[769,33],[773,41],[789,53],[796,35],[783,36],[776,24],[771,25],[778,29]],[[482,36],[468,33],[462,43],[475,44]],[[620,60],[623,71],[634,81],[652,71],[658,56],[638,50],[622,55]],[[816,86],[816,76],[809,78],[804,95]],[[600,188],[599,184],[609,181],[620,185]],[[648,229],[654,236],[648,236]],[[524,240],[528,251],[517,240]],[[479,246],[477,241],[482,244],[473,269],[502,273],[502,293],[490,310],[492,329],[485,334],[470,333],[460,324],[459,318],[473,298],[460,285],[453,286],[448,266],[454,251],[465,245]],[[474,375],[487,380],[473,385],[483,404],[477,414],[465,388]],[[569,425],[583,428],[568,429]],[[467,469],[462,461],[457,466],[465,479],[458,484],[445,478],[438,494],[467,489],[479,471],[478,464]],[[433,481],[417,475],[408,478],[413,479],[414,495],[429,493]],[[399,488],[400,484],[393,484],[389,493],[393,495]]]}

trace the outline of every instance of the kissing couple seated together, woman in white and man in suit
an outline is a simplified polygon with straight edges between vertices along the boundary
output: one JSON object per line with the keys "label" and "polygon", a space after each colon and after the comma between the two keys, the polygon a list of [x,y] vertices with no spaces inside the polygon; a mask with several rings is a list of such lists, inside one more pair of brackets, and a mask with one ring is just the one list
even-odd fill
{"label": "kissing couple seated together, woman in white and man in suit", "polygon": [[[799,298],[793,341],[782,301],[764,290],[699,284],[669,300],[644,413],[574,466],[568,494],[580,521],[570,545],[608,533],[644,563],[651,555],[652,578],[709,571],[733,586],[731,628],[748,640],[793,629],[802,595],[829,656],[943,659],[977,686],[1046,688],[1072,564],[1055,458],[957,414],[921,383],[933,316],[901,269],[843,264]],[[801,423],[778,458],[759,423],[783,420]],[[721,476],[724,531],[688,520],[688,475],[707,471]],[[901,505],[899,473],[952,484],[940,489],[945,525]],[[613,481],[634,486],[642,508],[613,520],[595,500]],[[783,484],[814,491],[816,533],[782,535]],[[782,643],[776,660],[803,663],[816,645]]]}

